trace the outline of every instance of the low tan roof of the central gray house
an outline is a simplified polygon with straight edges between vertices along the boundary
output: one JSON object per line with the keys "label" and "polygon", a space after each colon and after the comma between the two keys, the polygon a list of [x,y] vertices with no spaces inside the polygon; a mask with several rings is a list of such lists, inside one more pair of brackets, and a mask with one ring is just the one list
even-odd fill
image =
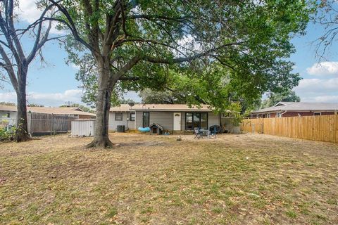
{"label": "low tan roof of the central gray house", "polygon": [[121,104],[120,106],[112,107],[111,112],[133,112],[133,111],[205,111],[211,112],[210,105],[192,105],[192,108],[189,108],[189,105],[184,104],[135,104],[130,107],[128,104]]}

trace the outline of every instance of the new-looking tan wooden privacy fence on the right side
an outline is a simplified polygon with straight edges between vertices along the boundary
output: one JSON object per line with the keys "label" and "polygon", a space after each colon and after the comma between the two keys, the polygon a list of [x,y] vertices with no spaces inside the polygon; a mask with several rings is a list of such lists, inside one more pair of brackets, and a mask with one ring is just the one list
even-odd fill
{"label": "new-looking tan wooden privacy fence on the right side", "polygon": [[242,131],[313,141],[338,142],[338,115],[245,119]]}

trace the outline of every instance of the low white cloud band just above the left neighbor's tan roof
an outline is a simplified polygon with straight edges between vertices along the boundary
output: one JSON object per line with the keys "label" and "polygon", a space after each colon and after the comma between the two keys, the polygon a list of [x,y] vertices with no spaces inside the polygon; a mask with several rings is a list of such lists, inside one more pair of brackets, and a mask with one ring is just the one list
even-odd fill
{"label": "low white cloud band just above the left neighbor's tan roof", "polygon": [[[68,101],[70,103],[82,103],[81,96],[82,91],[79,89],[67,90],[63,93],[39,93],[32,91],[27,94],[27,101],[28,103],[37,103],[45,106],[59,106]],[[16,103],[15,92],[0,93],[0,101]]]}

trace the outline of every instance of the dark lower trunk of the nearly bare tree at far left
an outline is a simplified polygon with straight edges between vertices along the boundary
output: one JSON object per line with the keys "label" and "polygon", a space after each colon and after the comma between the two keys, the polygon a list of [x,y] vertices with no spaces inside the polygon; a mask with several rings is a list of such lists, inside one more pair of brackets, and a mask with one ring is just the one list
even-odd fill
{"label": "dark lower trunk of the nearly bare tree at far left", "polygon": [[18,113],[16,115],[16,125],[17,129],[15,132],[15,141],[27,141],[30,139],[28,135],[28,123],[27,123],[27,101],[26,101],[26,79],[27,79],[27,70],[19,70],[20,77],[18,79],[18,89],[16,91],[16,98],[18,101]]}

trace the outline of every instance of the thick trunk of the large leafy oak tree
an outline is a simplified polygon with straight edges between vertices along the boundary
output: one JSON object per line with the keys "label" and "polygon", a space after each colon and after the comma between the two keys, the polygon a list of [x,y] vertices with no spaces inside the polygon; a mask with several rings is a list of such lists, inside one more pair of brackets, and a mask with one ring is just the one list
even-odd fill
{"label": "thick trunk of the large leafy oak tree", "polygon": [[[109,63],[99,62],[99,89],[96,96],[96,122],[94,140],[87,145],[88,148],[112,148],[109,140],[108,120],[111,109],[111,91],[113,84],[109,76]],[[100,66],[101,65],[101,66]]]}

